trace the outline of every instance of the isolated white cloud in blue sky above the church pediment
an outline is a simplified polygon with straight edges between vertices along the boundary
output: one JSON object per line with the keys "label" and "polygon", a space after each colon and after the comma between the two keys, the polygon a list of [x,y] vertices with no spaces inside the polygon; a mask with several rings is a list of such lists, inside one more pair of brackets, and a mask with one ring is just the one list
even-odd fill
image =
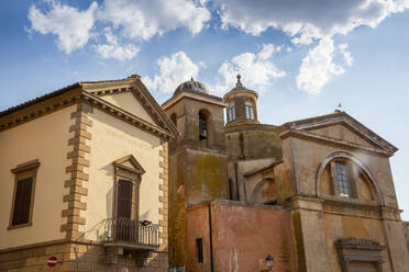
{"label": "isolated white cloud in blue sky above the church pediment", "polygon": [[333,77],[345,72],[344,66],[334,63],[336,54],[341,55],[346,66],[352,65],[353,57],[346,48],[346,44],[335,47],[331,38],[322,38],[302,59],[297,87],[308,93],[320,93]]}

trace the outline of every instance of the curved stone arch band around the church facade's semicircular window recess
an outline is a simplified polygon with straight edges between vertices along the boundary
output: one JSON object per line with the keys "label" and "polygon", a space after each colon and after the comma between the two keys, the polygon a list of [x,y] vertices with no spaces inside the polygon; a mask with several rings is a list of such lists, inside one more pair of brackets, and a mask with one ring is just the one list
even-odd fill
{"label": "curved stone arch band around the church facade's semicircular window recess", "polygon": [[385,205],[385,200],[383,197],[384,196],[383,193],[380,192],[380,188],[379,188],[378,183],[376,182],[376,180],[374,179],[374,175],[369,172],[369,170],[365,167],[365,165],[361,160],[358,160],[355,156],[353,156],[352,154],[345,152],[345,151],[340,151],[340,150],[329,154],[325,157],[325,159],[321,162],[321,165],[319,166],[319,168],[317,170],[317,177],[316,177],[317,196],[321,196],[321,192],[320,192],[321,177],[322,177],[322,173],[323,173],[325,167],[328,166],[328,163],[330,163],[332,160],[334,160],[336,158],[345,158],[345,159],[349,159],[349,160],[355,162],[364,171],[364,173],[367,175],[371,184],[375,189],[376,197],[377,197],[379,204]]}

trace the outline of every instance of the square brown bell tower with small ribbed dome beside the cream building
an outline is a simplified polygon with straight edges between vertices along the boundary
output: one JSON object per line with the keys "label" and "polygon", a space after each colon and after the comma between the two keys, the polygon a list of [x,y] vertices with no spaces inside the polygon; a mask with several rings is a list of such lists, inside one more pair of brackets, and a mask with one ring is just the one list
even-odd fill
{"label": "square brown bell tower with small ribbed dome beside the cream building", "polygon": [[229,199],[224,143],[224,102],[190,79],[162,107],[179,135],[169,143],[170,267],[187,257],[187,211],[199,203]]}

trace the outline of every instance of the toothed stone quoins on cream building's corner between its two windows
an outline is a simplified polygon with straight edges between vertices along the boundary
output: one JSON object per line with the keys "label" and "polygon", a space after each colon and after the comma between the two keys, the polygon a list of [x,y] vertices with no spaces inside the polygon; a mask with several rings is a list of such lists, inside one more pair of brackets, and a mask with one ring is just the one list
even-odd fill
{"label": "toothed stone quoins on cream building's corner between its two windows", "polygon": [[67,208],[62,212],[62,217],[66,217],[67,223],[60,226],[60,231],[66,233],[67,239],[80,237],[82,233],[79,231],[79,226],[86,224],[86,218],[81,217],[80,211],[87,209],[84,199],[88,195],[88,189],[84,184],[89,179],[86,169],[90,161],[86,155],[91,151],[90,146],[87,145],[87,140],[92,137],[87,132],[87,128],[92,126],[92,121],[87,116],[87,112],[90,111],[92,111],[91,106],[80,103],[77,105],[77,111],[71,113],[75,124],[69,127],[69,132],[74,133],[74,137],[68,139],[68,146],[73,146],[73,150],[67,154],[67,159],[71,160],[71,165],[66,168],[66,173],[70,173],[70,179],[64,183],[64,186],[69,189],[69,193],[63,197],[63,201],[67,203]]}

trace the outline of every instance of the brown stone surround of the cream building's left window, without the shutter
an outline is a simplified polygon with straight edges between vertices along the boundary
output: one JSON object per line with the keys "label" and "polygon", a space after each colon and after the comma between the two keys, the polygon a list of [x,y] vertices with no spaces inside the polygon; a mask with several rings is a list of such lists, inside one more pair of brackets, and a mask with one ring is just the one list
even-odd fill
{"label": "brown stone surround of the cream building's left window, without the shutter", "polygon": [[[35,195],[35,184],[36,184],[38,167],[40,167],[38,159],[34,159],[34,160],[30,160],[24,163],[20,163],[14,169],[11,169],[11,172],[14,174],[14,189],[13,189],[13,199],[12,199],[12,204],[11,204],[10,220],[9,220],[8,229],[21,228],[21,227],[33,225],[34,195]],[[33,183],[32,183],[32,189],[31,189],[29,222],[24,224],[19,224],[19,225],[12,225],[18,182],[19,180],[26,179],[26,178],[33,178],[33,181],[32,181]]]}

